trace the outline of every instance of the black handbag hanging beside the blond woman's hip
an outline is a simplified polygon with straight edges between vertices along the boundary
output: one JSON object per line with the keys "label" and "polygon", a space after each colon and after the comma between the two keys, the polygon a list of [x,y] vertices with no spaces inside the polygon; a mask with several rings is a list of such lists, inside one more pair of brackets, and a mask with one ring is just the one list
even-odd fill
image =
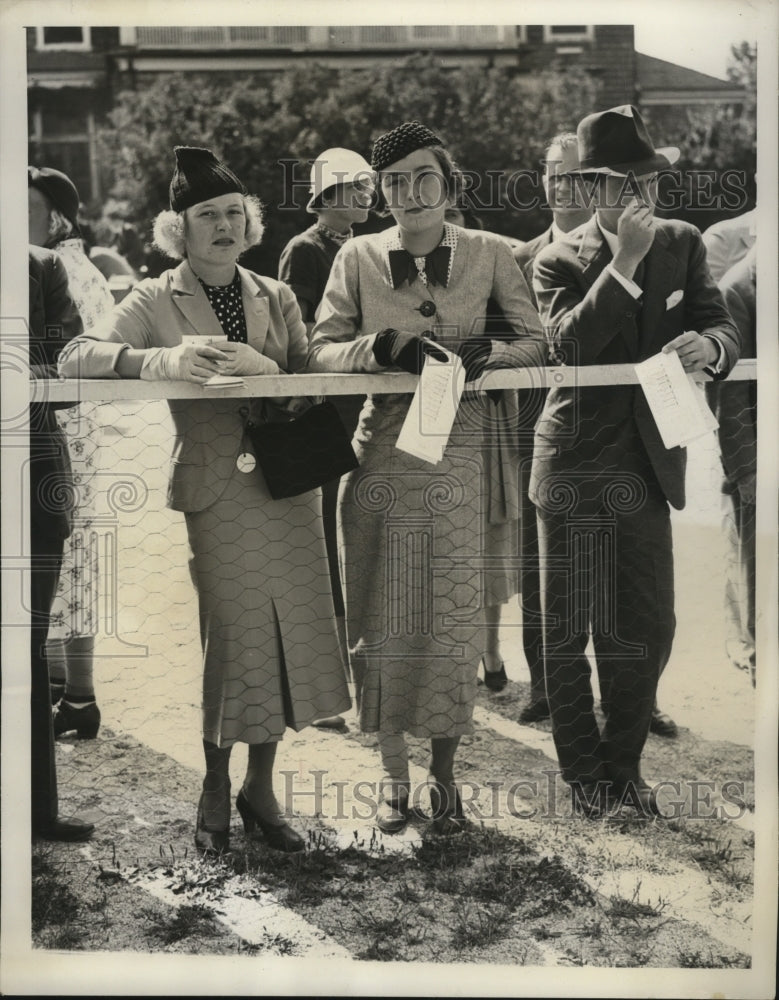
{"label": "black handbag hanging beside the blond woman's hip", "polygon": [[316,403],[286,420],[246,421],[246,435],[274,500],[324,486],[359,466],[338,411]]}

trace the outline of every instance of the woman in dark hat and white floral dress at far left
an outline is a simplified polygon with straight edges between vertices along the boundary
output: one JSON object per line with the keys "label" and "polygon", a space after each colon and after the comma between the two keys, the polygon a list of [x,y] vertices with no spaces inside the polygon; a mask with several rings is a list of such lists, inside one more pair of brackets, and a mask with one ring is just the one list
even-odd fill
{"label": "woman in dark hat and white floral dress at far left", "polygon": [[[73,181],[53,167],[27,168],[27,216],[33,246],[55,250],[68,274],[68,289],[84,330],[114,306],[103,275],[87,257],[78,223],[79,196]],[[98,552],[90,544],[96,516],[96,482],[102,428],[98,406],[82,403],[57,411],[68,442],[74,493],[73,533],[65,543],[62,571],[52,605],[46,655],[54,732],[92,739],[100,727],[95,700],[94,648],[97,632]]]}

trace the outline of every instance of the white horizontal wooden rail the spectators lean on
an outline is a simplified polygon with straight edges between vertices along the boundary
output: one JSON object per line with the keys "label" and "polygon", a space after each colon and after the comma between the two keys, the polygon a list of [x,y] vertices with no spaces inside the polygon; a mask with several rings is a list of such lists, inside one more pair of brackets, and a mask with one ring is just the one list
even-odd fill
{"label": "white horizontal wooden rail the spectators lean on", "polygon": [[[710,381],[702,372],[700,381]],[[729,381],[757,378],[754,358],[739,361],[728,375]],[[352,394],[388,394],[413,392],[416,375],[404,372],[368,374],[254,375],[244,385],[232,389],[204,389],[194,382],[141,379],[41,379],[30,383],[32,402],[65,403],[73,401],[108,402],[133,399],[246,399],[250,396],[348,396]],[[487,372],[478,389],[576,388],[598,385],[636,385],[633,365],[588,365],[584,367],[502,368]]]}

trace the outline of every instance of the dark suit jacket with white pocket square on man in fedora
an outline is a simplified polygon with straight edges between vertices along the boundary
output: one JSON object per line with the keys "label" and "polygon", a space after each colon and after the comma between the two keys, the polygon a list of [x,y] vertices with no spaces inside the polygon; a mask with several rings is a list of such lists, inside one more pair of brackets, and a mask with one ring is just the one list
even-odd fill
{"label": "dark suit jacket with white pocket square on man in fedora", "polygon": [[[567,364],[635,364],[684,331],[696,330],[720,341],[723,374],[730,370],[739,356],[738,332],[694,226],[656,220],[639,300],[606,270],[610,261],[595,218],[536,258],[539,312]],[[574,483],[601,479],[606,485],[609,474],[646,481],[653,470],[666,499],[681,509],[685,461],[684,449],[663,445],[640,387],[552,389],[536,428],[530,496],[552,509],[549,491],[561,474]]]}

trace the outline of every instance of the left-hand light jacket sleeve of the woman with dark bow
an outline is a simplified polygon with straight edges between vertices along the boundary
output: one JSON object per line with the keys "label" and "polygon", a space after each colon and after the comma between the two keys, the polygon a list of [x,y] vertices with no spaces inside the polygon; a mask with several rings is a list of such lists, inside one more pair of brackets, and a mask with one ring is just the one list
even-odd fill
{"label": "left-hand light jacket sleeve of the woman with dark bow", "polygon": [[359,245],[347,243],[336,255],[319,318],[311,332],[308,371],[378,372],[373,356],[378,331],[361,332]]}

